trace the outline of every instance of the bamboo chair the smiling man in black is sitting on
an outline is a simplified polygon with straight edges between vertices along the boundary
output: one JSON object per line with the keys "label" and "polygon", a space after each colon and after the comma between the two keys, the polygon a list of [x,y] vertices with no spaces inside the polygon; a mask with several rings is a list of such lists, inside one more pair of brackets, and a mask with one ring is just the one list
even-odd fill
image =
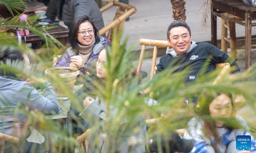
{"label": "bamboo chair the smiling man in black is sitting on", "polygon": [[[138,68],[137,68],[137,74],[140,74],[140,69],[141,69],[144,53],[146,50],[146,46],[154,46],[151,71],[150,71],[150,79],[152,79],[156,73],[156,57],[157,57],[158,47],[166,47],[166,50],[170,49],[170,47],[168,46],[167,40],[140,39],[140,45],[141,45],[141,51],[140,51]],[[215,66],[216,68],[222,68],[222,69],[212,84],[218,83],[221,80],[221,78],[227,75],[229,70],[231,69],[229,63],[218,63],[218,64],[215,64]],[[196,107],[200,107],[200,106],[197,105]],[[151,125],[151,124],[154,124],[156,120],[157,119],[148,119],[146,120],[146,123],[147,125]],[[177,129],[175,131],[181,135],[184,135],[185,128]]]}

